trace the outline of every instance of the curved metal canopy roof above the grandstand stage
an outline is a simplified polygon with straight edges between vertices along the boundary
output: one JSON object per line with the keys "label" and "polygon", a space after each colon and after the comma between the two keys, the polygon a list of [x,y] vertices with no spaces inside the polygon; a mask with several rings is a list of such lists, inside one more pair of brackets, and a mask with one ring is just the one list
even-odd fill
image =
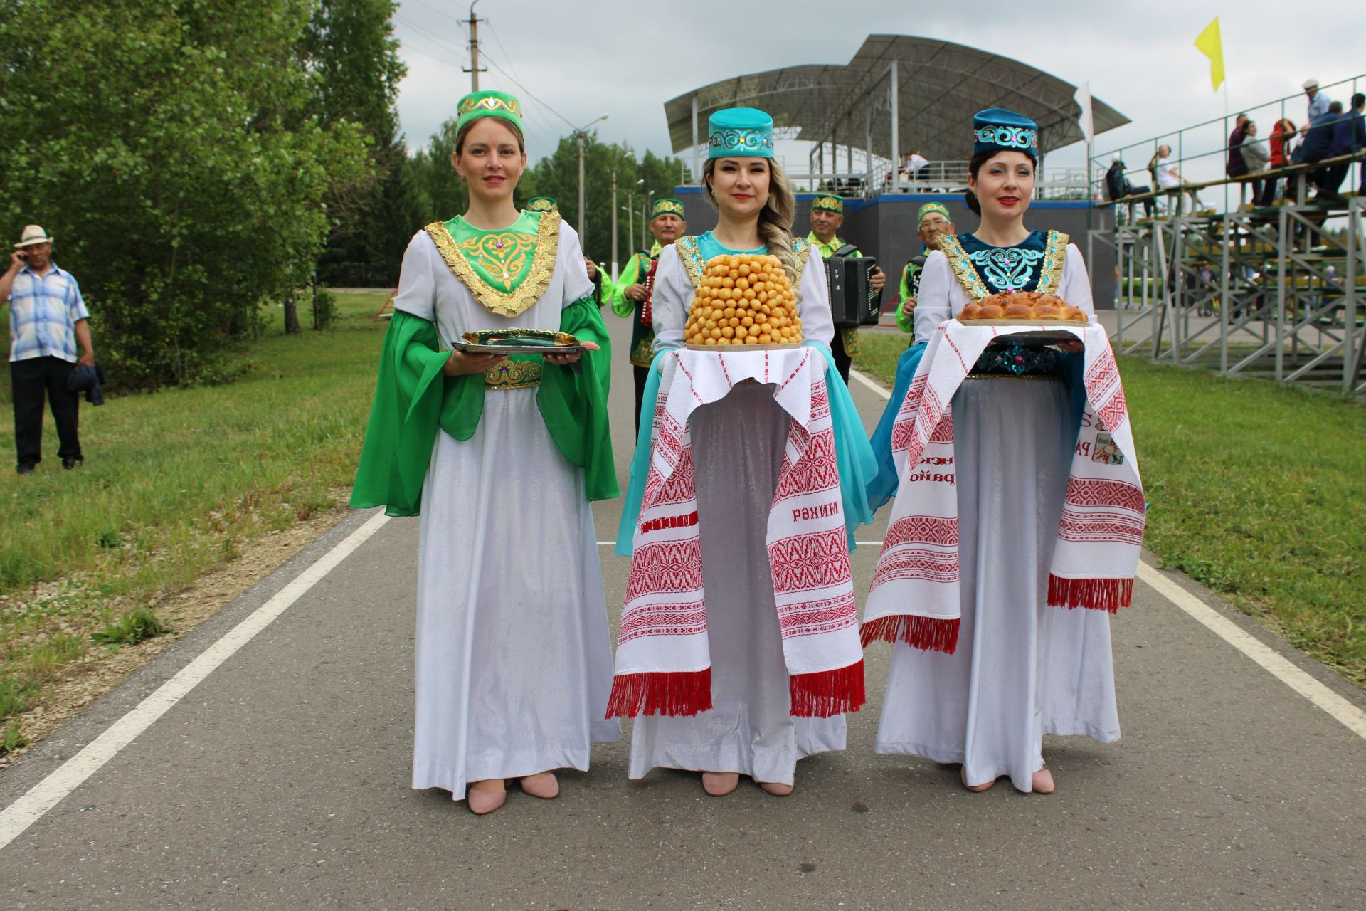
{"label": "curved metal canopy roof above the grandstand stage", "polygon": [[[747,105],[773,115],[776,127],[795,127],[794,138],[833,141],[892,153],[889,68],[897,71],[897,142],[932,161],[973,154],[971,115],[1009,108],[1040,127],[1040,152],[1083,139],[1076,126],[1076,86],[1019,60],[937,38],[873,34],[847,66],[800,66],[713,82],[664,104],[673,152],[706,142],[706,119],[720,108]],[[1115,108],[1091,98],[1096,132],[1128,123]]]}

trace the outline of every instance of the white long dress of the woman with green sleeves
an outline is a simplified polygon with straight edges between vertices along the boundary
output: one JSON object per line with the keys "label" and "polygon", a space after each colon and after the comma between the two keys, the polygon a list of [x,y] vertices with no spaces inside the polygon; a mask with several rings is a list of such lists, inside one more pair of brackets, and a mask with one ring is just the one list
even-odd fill
{"label": "white long dress of the woman with green sleeves", "polygon": [[[486,310],[425,231],[403,257],[396,310],[445,343],[478,329],[559,329],[589,296],[579,240],[560,225],[545,294],[515,318]],[[413,787],[455,799],[484,779],[589,768],[604,721],[611,639],[582,468],[556,448],[535,388],[488,389],[469,440],[438,430],[418,544]]]}

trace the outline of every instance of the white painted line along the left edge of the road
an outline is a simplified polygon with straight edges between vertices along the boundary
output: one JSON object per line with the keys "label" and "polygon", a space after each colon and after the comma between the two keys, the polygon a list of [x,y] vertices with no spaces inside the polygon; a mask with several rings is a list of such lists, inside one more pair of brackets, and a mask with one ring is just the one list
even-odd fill
{"label": "white painted line along the left edge of the road", "polygon": [[346,560],[352,550],[365,544],[389,518],[380,514],[352,531],[344,541],[318,557],[313,565],[280,589],[269,601],[251,612],[242,623],[232,627],[221,639],[204,650],[194,661],[156,688],[152,695],[139,702],[122,718],[111,724],[104,733],[92,740],[81,753],[61,763],[46,779],[30,788],[22,798],[0,811],[0,848],[14,841],[30,825],[75,791],[81,783],[100,770],[105,762],[119,754],[123,747],[146,731],[153,721],[167,713],[201,680],[208,677],[224,661],[232,657],[255,634],[270,626],[285,609],[298,601],[322,576]]}

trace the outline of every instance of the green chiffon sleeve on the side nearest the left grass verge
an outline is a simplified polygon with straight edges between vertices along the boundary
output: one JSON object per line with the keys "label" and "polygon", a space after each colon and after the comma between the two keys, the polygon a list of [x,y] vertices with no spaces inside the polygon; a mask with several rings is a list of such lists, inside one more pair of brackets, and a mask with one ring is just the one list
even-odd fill
{"label": "green chiffon sleeve on the side nearest the left grass verge", "polygon": [[355,471],[351,505],[385,507],[392,516],[418,515],[422,482],[437,426],[470,438],[484,410],[484,377],[447,377],[449,355],[436,326],[402,310],[384,335],[374,404]]}

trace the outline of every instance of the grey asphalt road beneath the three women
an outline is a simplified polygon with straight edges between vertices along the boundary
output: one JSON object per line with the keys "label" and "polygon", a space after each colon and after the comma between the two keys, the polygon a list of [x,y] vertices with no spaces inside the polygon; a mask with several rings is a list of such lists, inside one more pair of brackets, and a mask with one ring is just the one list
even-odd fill
{"label": "grey asphalt road beneath the three women", "polygon": [[[626,324],[612,324],[620,355]],[[881,397],[858,382],[854,395],[872,426]],[[630,396],[622,370],[617,464]],[[619,509],[598,504],[601,539]],[[971,795],[955,768],[874,755],[889,656],[878,645],[848,750],[805,761],[787,799],[747,783],[712,799],[695,774],[672,772],[627,781],[623,739],[594,750],[590,773],[561,774],[559,800],[514,792],[475,818],[408,788],[417,522],[380,524],[337,560],[333,548],[370,520],[325,534],[0,776],[0,907],[1366,907],[1366,729],[1143,582],[1115,624],[1124,739],[1049,739],[1052,796],[1005,781]],[[627,561],[601,552],[615,627]],[[329,553],[324,572],[316,561]],[[861,598],[876,556],[855,555]],[[206,654],[294,595],[240,650]],[[1359,692],[1228,616],[1341,718],[1366,718]],[[202,682],[175,701],[182,669]],[[134,720],[150,724],[119,750],[126,728],[111,724],[139,703]],[[96,753],[108,761],[41,813],[37,785],[78,780],[67,761]]]}

